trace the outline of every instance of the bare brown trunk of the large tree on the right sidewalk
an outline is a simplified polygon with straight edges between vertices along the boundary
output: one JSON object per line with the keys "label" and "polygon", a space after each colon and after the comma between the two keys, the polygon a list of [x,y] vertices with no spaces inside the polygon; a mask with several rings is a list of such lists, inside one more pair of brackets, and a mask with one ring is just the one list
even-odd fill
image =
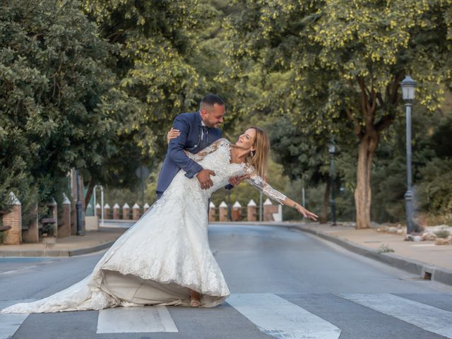
{"label": "bare brown trunk of the large tree on the right sidewalk", "polygon": [[368,131],[359,140],[359,153],[357,165],[357,186],[355,189],[356,228],[370,227],[371,206],[371,166],[376,146],[379,143],[378,133]]}

